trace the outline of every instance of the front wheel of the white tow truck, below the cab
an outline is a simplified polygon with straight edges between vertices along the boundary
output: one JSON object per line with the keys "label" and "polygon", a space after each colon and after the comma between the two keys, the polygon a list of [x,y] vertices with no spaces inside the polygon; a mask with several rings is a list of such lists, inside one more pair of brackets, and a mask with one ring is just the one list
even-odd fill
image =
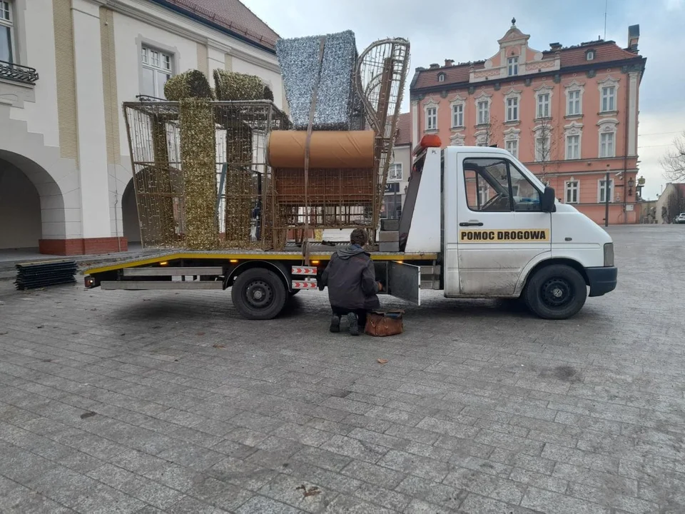
{"label": "front wheel of the white tow truck, below the cab", "polygon": [[585,279],[574,268],[552,264],[529,278],[522,295],[526,306],[543,319],[567,319],[580,311],[587,298]]}

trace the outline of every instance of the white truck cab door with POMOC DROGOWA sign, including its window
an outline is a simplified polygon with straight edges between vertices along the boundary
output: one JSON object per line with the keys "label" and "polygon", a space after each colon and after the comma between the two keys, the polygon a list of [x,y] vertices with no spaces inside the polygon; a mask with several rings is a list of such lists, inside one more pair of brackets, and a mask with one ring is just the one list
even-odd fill
{"label": "white truck cab door with POMOC DROGOWA sign, including its window", "polygon": [[461,295],[514,293],[523,268],[552,250],[542,191],[504,156],[457,153],[457,263]]}

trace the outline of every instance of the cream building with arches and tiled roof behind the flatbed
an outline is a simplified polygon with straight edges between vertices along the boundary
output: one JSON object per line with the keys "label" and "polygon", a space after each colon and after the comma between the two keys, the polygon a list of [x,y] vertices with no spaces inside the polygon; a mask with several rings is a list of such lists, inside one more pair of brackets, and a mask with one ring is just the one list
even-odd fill
{"label": "cream building with arches and tiled roof behind the flatbed", "polygon": [[238,0],[0,0],[0,249],[139,241],[123,101],[226,69],[287,109],[277,39]]}

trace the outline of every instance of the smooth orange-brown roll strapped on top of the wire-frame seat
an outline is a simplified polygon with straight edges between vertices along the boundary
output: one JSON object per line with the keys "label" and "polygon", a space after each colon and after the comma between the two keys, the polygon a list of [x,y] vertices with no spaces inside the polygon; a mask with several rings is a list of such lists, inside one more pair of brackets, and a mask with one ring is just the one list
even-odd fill
{"label": "smooth orange-brown roll strapped on top of the wire-frame seat", "polygon": [[[272,131],[267,156],[272,168],[304,168],[306,131]],[[318,169],[373,168],[373,131],[314,131],[309,167]]]}

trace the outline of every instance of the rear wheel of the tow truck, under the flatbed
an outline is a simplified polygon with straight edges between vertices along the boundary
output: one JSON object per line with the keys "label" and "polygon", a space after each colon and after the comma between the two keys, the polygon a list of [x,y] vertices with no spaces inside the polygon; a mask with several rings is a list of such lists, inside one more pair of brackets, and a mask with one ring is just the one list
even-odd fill
{"label": "rear wheel of the tow truck, under the flatbed", "polygon": [[251,268],[235,279],[230,298],[243,318],[265,320],[275,318],[283,310],[288,291],[273,271]]}

